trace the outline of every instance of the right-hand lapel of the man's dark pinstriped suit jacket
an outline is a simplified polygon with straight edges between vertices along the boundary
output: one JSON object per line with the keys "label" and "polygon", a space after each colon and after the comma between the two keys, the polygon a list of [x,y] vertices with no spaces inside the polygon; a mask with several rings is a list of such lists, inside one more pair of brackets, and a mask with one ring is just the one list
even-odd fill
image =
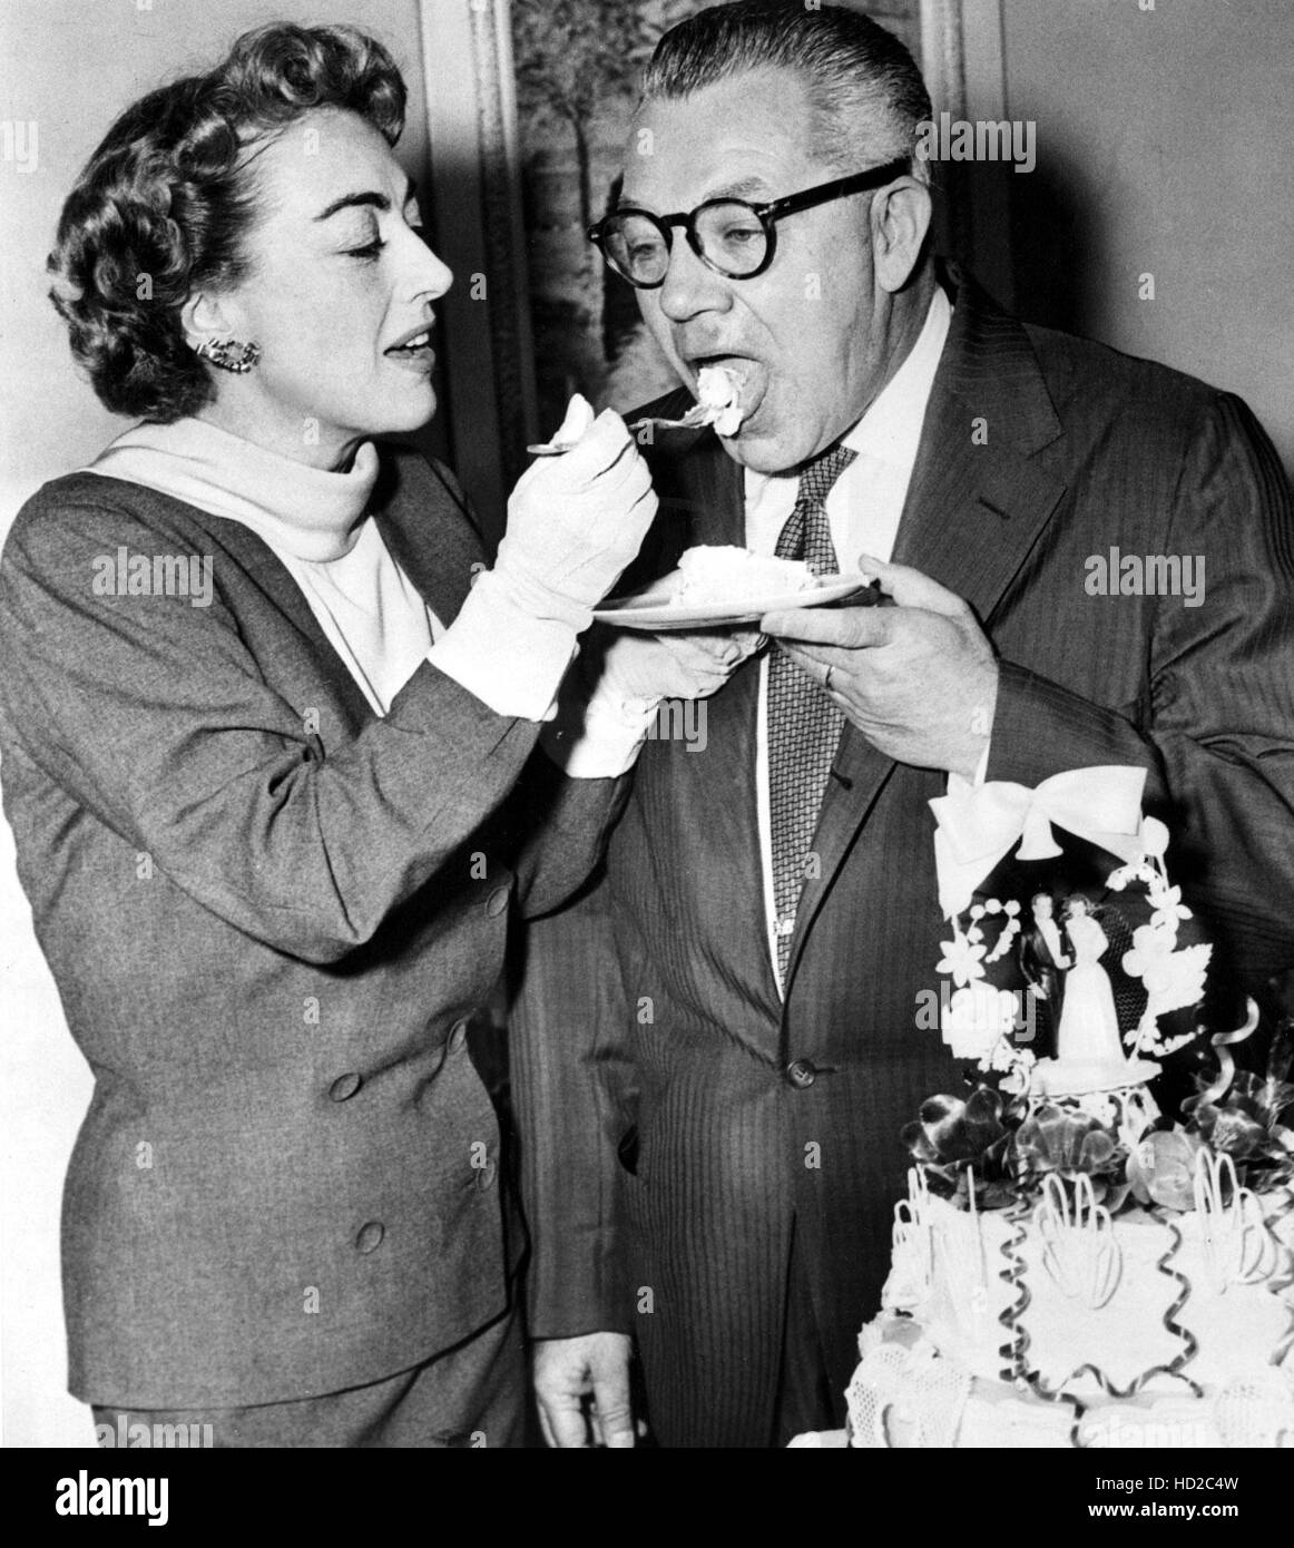
{"label": "right-hand lapel of the man's dark pinstriped suit jacket", "polygon": [[[988,627],[1065,492],[1037,460],[1060,432],[1025,330],[963,283],[926,410],[895,562],[966,598]],[[805,937],[895,766],[845,726],[814,837],[820,875],[805,882],[796,916],[788,995]]]}

